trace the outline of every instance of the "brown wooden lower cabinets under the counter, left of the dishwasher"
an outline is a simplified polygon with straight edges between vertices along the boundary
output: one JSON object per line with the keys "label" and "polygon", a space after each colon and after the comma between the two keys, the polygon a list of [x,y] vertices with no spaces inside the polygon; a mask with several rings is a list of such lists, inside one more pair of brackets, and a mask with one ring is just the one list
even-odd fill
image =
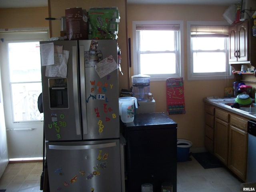
{"label": "brown wooden lower cabinets under the counter, left of the dishwasher", "polygon": [[[206,118],[207,122],[209,116]],[[246,181],[247,166],[248,120],[243,116],[215,108],[213,154],[244,182]],[[206,125],[205,145],[212,144],[208,141],[211,134],[211,127]]]}

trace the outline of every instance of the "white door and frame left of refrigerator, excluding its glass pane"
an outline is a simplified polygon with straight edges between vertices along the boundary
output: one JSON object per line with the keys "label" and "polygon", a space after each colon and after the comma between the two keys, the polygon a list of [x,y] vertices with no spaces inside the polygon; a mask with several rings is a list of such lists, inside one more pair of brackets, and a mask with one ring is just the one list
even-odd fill
{"label": "white door and frame left of refrigerator, excluding its glass pane", "polygon": [[[29,30],[28,30],[29,31]],[[47,31],[48,30],[44,30]],[[43,32],[43,31],[42,31]],[[0,36],[3,34],[5,35],[4,41],[8,40],[47,40],[47,38],[38,38],[33,37],[31,34],[30,36],[23,36],[18,35],[21,31],[16,32],[0,32]],[[16,36],[11,36],[7,38],[6,36],[9,34],[16,34]],[[1,37],[2,38],[2,37]],[[0,42],[4,44],[4,42]],[[3,47],[0,45],[0,49]],[[3,52],[2,50],[0,52]],[[5,52],[6,53],[6,52]],[[1,56],[2,57],[2,56]],[[1,58],[0,58],[1,59]],[[2,89],[4,91],[3,98],[4,98],[4,114],[5,114],[5,124],[7,130],[7,141],[8,141],[8,154],[9,158],[35,158],[35,157],[42,157],[43,152],[43,122],[30,122],[28,124],[22,123],[13,123],[12,122],[12,115],[10,115],[10,108],[11,108],[11,101],[10,101],[10,91],[9,94],[6,94],[5,90],[10,90],[9,84],[4,83],[4,79],[9,78],[6,72],[6,60],[1,62],[1,70],[2,70]],[[5,64],[4,64],[5,62]],[[8,61],[7,61],[8,62]],[[7,63],[8,66],[8,63]],[[7,72],[8,73],[8,72]],[[7,76],[7,77],[6,77]],[[9,82],[9,81],[8,81]],[[9,87],[8,87],[9,86]]]}

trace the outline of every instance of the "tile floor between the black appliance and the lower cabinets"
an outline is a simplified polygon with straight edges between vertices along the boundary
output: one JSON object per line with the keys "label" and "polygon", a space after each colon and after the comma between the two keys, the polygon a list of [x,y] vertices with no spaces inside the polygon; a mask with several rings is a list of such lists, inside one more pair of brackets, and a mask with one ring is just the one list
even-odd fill
{"label": "tile floor between the black appliance and the lower cabinets", "polygon": [[178,162],[177,192],[240,192],[240,180],[226,168],[204,169],[191,158]]}

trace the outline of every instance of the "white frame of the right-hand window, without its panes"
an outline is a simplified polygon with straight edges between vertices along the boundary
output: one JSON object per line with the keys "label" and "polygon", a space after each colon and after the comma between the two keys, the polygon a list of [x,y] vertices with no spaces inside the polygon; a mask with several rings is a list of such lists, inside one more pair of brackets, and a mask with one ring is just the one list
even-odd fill
{"label": "white frame of the right-hand window, without its panes", "polygon": [[232,74],[231,66],[228,62],[228,39],[226,42],[226,72],[205,72],[194,73],[193,72],[193,57],[192,57],[192,44],[191,44],[191,26],[192,25],[208,25],[208,26],[229,26],[228,22],[222,21],[187,21],[187,54],[188,54],[188,80],[219,80],[234,78]]}

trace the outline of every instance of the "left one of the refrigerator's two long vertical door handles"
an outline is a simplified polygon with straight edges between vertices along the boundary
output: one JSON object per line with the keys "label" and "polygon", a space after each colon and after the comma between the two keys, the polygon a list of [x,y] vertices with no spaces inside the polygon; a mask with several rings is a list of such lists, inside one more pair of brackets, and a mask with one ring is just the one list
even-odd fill
{"label": "left one of the refrigerator's two long vertical door handles", "polygon": [[81,134],[80,114],[79,114],[79,94],[78,94],[78,64],[77,64],[77,46],[72,46],[72,71],[73,71],[73,94],[75,108],[76,134]]}

